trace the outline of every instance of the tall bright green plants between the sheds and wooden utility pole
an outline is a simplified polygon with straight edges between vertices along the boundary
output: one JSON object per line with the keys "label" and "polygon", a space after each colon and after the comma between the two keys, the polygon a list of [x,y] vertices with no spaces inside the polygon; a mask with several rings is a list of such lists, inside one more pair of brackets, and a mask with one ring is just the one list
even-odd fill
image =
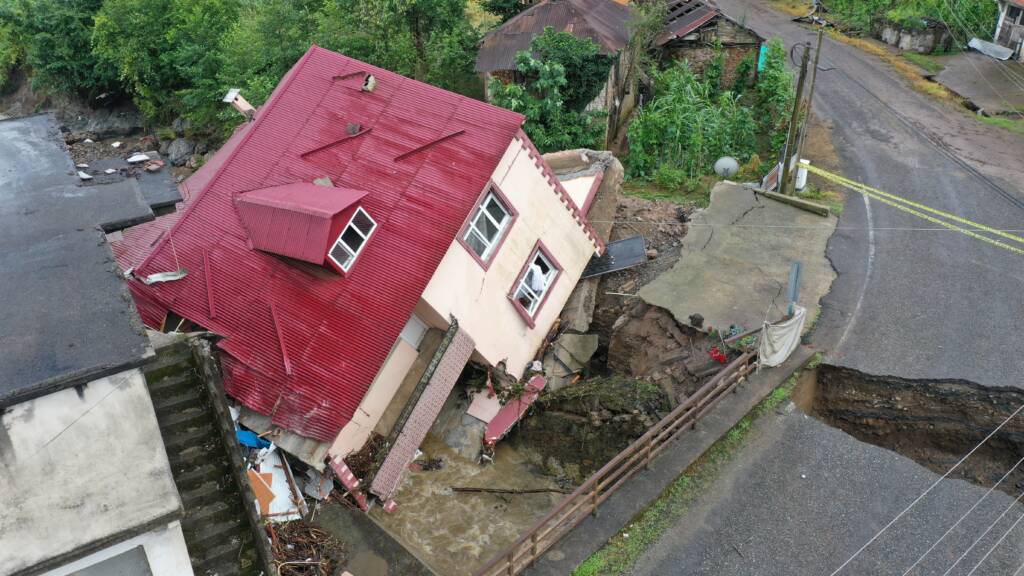
{"label": "tall bright green plants between the sheds and wooden utility pole", "polygon": [[750,72],[742,70],[733,86],[723,88],[722,67],[719,46],[719,57],[702,78],[686,63],[651,73],[654,97],[629,128],[626,165],[631,178],[664,190],[694,190],[722,156],[740,163],[758,153],[774,156],[785,138],[794,99],[781,41],[769,42],[753,91],[748,90]]}

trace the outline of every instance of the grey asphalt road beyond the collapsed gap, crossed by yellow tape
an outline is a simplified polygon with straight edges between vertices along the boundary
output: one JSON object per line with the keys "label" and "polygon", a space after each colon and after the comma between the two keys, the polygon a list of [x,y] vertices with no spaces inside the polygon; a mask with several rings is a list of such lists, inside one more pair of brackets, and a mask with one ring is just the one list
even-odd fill
{"label": "grey asphalt road beyond the collapsed gap, crossed by yellow tape", "polygon": [[[786,46],[813,41],[752,0],[728,15]],[[843,172],[999,229],[1024,229],[1024,138],[918,93],[876,56],[826,37],[814,113]],[[813,151],[810,151],[813,158]],[[839,278],[815,343],[872,374],[1024,387],[1024,256],[850,193],[827,256]]]}

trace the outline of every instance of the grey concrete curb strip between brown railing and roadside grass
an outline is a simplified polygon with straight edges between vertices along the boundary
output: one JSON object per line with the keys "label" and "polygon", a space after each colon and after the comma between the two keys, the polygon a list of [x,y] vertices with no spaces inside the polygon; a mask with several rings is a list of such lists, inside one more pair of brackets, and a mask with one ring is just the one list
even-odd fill
{"label": "grey concrete curb strip between brown railing and roadside grass", "polygon": [[600,509],[580,524],[568,536],[551,547],[540,561],[523,571],[529,576],[564,576],[571,574],[581,563],[601,549],[638,513],[643,511],[697,460],[712,445],[723,438],[755,406],[791,375],[801,370],[816,351],[801,345],[778,368],[748,377],[736,388],[731,402],[723,401],[705,416],[695,430],[683,436],[677,445],[654,459],[650,469],[634,477],[624,489],[615,492]]}

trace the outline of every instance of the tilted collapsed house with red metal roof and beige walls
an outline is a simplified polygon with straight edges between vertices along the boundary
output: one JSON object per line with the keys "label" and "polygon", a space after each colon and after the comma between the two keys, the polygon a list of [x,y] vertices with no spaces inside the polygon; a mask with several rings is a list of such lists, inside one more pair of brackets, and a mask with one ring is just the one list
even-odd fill
{"label": "tilted collapsed house with red metal roof and beige walls", "polygon": [[590,202],[520,115],[316,46],[251,116],[115,252],[146,324],[223,337],[243,423],[315,466],[394,437],[387,498],[470,359],[525,374],[603,248]]}

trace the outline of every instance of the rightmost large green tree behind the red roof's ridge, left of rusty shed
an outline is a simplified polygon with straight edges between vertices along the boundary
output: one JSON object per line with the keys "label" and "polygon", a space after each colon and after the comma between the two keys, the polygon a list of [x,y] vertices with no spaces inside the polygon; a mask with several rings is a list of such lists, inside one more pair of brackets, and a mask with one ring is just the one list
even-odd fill
{"label": "rightmost large green tree behind the red roof's ridge, left of rusty shed", "polygon": [[473,78],[479,35],[464,0],[327,0],[316,39],[354,58],[455,89]]}

